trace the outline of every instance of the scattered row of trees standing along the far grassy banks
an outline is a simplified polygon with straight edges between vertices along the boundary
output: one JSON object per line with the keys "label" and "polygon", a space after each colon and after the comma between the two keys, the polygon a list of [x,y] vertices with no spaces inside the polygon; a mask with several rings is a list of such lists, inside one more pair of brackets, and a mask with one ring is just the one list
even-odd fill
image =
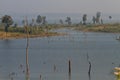
{"label": "scattered row of trees standing along the far grassy banks", "polygon": [[[112,19],[112,16],[109,16],[109,19]],[[14,23],[13,18],[10,15],[4,15],[2,16],[2,18],[0,18],[1,23],[4,24],[4,30],[5,32],[8,32],[8,28],[10,25],[13,25],[14,27],[17,27],[17,23]],[[63,21],[62,19],[59,20],[60,24],[64,24],[64,22],[67,25],[72,25],[72,19],[71,17],[67,16],[65,21]],[[22,24],[24,26],[25,24],[25,20],[22,21]],[[36,19],[32,19],[32,22],[29,24],[29,26],[44,26],[47,25],[48,22],[46,20],[46,16],[41,16],[38,15],[36,17]],[[78,24],[82,24],[82,25],[87,25],[87,14],[83,14],[82,16],[82,21],[80,21],[80,23]],[[92,24],[103,24],[103,19],[101,18],[101,12],[97,12],[95,16],[93,16],[92,18]]]}

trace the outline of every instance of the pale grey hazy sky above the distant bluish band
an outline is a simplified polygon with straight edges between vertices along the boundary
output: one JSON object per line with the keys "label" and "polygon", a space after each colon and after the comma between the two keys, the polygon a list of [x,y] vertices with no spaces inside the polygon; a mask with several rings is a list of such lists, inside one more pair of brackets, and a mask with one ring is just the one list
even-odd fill
{"label": "pale grey hazy sky above the distant bluish band", "polygon": [[120,0],[0,0],[1,13],[116,13]]}

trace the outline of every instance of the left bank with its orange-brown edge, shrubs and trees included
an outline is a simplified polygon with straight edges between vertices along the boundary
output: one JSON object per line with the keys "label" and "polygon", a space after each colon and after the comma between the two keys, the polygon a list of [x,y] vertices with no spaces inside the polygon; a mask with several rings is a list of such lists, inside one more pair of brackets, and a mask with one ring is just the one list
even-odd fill
{"label": "left bank with its orange-brown edge, shrubs and trees included", "polygon": [[[19,27],[16,23],[13,25],[13,19],[11,16],[5,15],[1,18],[0,39],[26,38],[27,30],[30,38],[64,35],[62,33],[51,31],[51,25],[46,24],[45,17],[43,17],[43,19],[38,16],[38,19],[36,20],[38,24],[30,25],[26,18],[26,20],[23,20],[23,27]],[[41,20],[43,20],[42,24],[40,24]]]}

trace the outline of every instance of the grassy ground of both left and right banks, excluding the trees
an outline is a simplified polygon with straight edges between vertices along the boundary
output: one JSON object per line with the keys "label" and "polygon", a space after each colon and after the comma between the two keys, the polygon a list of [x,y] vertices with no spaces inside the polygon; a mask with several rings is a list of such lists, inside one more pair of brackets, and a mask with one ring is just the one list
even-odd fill
{"label": "grassy ground of both left and right banks, excluding the trees", "polygon": [[[51,32],[53,29],[69,28],[84,32],[107,32],[107,33],[120,33],[120,24],[87,24],[87,25],[60,25],[51,24],[47,26],[35,26],[29,27],[29,37],[47,37],[47,36],[59,36],[65,35],[64,33]],[[4,26],[0,26],[0,39],[10,39],[10,38],[25,38],[26,31],[25,27],[9,27],[8,32],[4,31]]]}

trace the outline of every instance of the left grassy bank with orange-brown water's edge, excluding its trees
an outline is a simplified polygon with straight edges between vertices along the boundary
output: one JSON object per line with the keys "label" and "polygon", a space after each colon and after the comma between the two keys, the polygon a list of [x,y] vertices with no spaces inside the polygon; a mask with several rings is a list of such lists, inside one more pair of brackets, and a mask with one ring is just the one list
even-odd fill
{"label": "left grassy bank with orange-brown water's edge, excluding its trees", "polygon": [[[57,32],[51,31],[52,27],[50,26],[35,26],[28,27],[29,37],[49,37],[49,36],[60,36],[64,35]],[[18,39],[18,38],[26,38],[26,30],[25,27],[9,27],[8,32],[4,31],[4,26],[0,27],[0,39]]]}

